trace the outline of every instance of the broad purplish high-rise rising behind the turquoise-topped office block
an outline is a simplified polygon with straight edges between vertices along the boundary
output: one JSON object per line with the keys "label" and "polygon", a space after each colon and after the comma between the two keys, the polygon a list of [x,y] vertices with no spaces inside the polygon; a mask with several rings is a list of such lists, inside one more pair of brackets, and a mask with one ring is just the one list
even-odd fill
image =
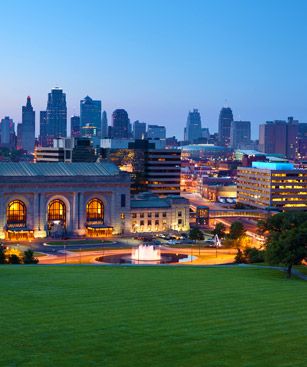
{"label": "broad purplish high-rise rising behind the turquoise-topped office block", "polygon": [[259,126],[259,150],[268,154],[282,154],[289,159],[296,155],[298,121],[267,121]]}

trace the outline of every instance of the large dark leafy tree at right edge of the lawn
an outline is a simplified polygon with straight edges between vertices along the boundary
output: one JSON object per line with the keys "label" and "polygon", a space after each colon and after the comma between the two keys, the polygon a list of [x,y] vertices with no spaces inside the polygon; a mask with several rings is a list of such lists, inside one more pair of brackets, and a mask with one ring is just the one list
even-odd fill
{"label": "large dark leafy tree at right edge of the lawn", "polygon": [[265,243],[267,262],[286,265],[290,278],[293,265],[307,259],[307,213],[279,213],[261,225],[268,233]]}

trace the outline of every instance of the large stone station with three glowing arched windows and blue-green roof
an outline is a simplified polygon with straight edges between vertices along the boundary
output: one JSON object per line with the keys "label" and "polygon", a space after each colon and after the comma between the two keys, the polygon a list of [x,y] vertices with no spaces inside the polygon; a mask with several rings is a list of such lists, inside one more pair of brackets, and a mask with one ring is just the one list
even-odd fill
{"label": "large stone station with three glowing arched windows and blue-green roof", "polygon": [[112,163],[0,163],[0,238],[130,231],[130,179]]}

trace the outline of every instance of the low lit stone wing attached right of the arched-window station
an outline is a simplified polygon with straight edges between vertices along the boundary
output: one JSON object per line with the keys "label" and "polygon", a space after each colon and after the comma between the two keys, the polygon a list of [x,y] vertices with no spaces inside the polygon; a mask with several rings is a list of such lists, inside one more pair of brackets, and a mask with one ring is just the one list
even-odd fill
{"label": "low lit stone wing attached right of the arched-window station", "polygon": [[131,232],[188,231],[189,208],[189,201],[180,196],[143,193],[131,200]]}

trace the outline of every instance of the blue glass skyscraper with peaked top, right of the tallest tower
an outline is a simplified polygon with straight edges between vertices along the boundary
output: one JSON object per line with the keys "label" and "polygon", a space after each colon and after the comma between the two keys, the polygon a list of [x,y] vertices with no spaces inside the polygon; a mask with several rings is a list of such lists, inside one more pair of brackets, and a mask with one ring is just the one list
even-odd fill
{"label": "blue glass skyscraper with peaked top, right of the tallest tower", "polygon": [[[101,137],[101,101],[86,96],[80,101],[81,135],[83,131],[92,131],[93,137]],[[88,135],[88,134],[84,134]]]}

